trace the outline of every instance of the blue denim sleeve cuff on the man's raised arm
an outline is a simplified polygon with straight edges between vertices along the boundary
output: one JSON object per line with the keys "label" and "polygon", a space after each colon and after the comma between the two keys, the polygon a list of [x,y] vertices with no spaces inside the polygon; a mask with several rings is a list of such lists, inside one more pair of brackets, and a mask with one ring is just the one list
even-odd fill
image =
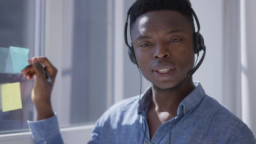
{"label": "blue denim sleeve cuff on the man's raised arm", "polygon": [[64,144],[56,114],[41,121],[27,121],[35,144]]}

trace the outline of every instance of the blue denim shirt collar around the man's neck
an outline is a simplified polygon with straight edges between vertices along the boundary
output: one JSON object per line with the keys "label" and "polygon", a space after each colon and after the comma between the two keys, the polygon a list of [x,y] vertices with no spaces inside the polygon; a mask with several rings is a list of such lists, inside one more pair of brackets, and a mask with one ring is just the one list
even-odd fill
{"label": "blue denim shirt collar around the man's neck", "polygon": [[[199,82],[194,82],[194,85],[196,88],[187,95],[186,98],[184,98],[177,110],[177,115],[179,115],[181,112],[186,115],[189,111],[191,111],[195,106],[199,105],[200,101],[203,99],[205,92],[203,90],[202,85]],[[138,105],[138,115],[141,114],[141,108],[142,111],[147,111],[151,98],[152,98],[152,90],[151,86],[147,88],[147,90],[141,94],[141,105]],[[140,101],[138,101],[140,103]]]}

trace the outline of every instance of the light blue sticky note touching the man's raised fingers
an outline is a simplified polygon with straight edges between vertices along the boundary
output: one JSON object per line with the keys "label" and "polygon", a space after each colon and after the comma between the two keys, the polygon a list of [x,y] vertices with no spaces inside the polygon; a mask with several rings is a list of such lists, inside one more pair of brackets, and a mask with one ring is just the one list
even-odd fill
{"label": "light blue sticky note touching the man's raised fingers", "polygon": [[29,65],[30,49],[10,46],[10,57],[13,63],[13,73],[21,73],[21,70]]}

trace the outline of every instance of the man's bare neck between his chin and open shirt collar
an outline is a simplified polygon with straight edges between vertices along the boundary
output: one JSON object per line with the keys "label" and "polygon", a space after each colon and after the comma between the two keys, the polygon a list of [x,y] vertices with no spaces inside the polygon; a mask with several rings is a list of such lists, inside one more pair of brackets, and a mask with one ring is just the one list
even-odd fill
{"label": "man's bare neck between his chin and open shirt collar", "polygon": [[[189,80],[189,82],[188,82]],[[152,87],[151,108],[157,112],[169,112],[174,114],[177,111],[181,101],[195,89],[192,78],[186,77],[179,85],[170,90],[159,91]]]}

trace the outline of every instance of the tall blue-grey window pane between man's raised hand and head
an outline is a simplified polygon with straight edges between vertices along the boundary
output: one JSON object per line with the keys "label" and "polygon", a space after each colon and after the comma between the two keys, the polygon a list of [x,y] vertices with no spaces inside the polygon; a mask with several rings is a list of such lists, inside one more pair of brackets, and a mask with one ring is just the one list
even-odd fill
{"label": "tall blue-grey window pane between man's raised hand and head", "polygon": [[67,98],[62,103],[68,101],[70,111],[65,112],[69,121],[59,118],[61,127],[96,121],[108,107],[108,0],[72,0],[72,4],[72,44],[63,48],[61,70],[62,96]]}

